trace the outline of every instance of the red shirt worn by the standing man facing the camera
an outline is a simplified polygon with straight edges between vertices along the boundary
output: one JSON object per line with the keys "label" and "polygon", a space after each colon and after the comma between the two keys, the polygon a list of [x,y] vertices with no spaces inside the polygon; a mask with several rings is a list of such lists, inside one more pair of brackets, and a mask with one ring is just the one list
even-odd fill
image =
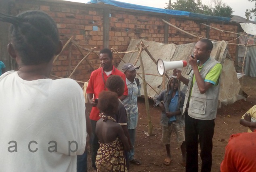
{"label": "red shirt worn by the standing man facing the camera", "polygon": [[[104,76],[104,80],[102,77],[102,74]],[[109,76],[111,75],[118,75],[121,76],[124,80],[124,83],[126,83],[126,78],[123,72],[121,72],[120,70],[116,69],[113,66],[112,72]],[[97,99],[99,97],[99,93],[103,90],[107,90],[107,88],[105,88],[105,83],[107,81],[107,78],[109,78],[109,76],[106,75],[106,73],[103,71],[102,67],[99,69],[96,69],[95,71],[93,71],[91,73],[90,76],[90,80],[86,89],[86,93],[92,93],[94,94],[94,99]],[[125,84],[125,88],[124,88],[124,95],[127,96],[128,95],[128,88],[127,85]],[[98,121],[100,119],[99,117],[99,109],[97,107],[92,107],[92,111],[90,113],[90,119],[94,120],[94,121]]]}

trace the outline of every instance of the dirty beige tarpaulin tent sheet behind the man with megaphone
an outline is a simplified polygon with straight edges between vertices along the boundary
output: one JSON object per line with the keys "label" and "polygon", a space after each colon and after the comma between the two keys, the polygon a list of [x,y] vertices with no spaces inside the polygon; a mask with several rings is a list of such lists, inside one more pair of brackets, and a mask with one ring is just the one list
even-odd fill
{"label": "dirty beige tarpaulin tent sheet behind the man with megaphone", "polygon": [[[195,43],[191,44],[162,44],[159,42],[145,41],[142,40],[145,46],[149,46],[147,49],[157,61],[157,59],[162,59],[164,61],[180,61],[180,60],[189,60],[189,55],[193,54],[193,49]],[[131,40],[128,46],[127,51],[136,50],[136,45],[140,44],[141,40]],[[244,96],[239,95],[241,92],[241,86],[239,80],[237,79],[237,73],[235,71],[234,63],[227,53],[227,43],[225,41],[213,43],[214,47],[211,52],[211,57],[222,63],[222,74],[220,82],[220,95],[219,101],[223,104],[231,104],[237,100],[245,99]],[[136,61],[138,52],[125,54],[123,60],[126,63],[132,63]],[[227,57],[226,57],[227,55]],[[145,73],[159,75],[157,72],[157,67],[155,63],[151,60],[147,52],[143,51],[141,53],[143,64],[145,68]],[[122,66],[124,62],[121,61],[118,65],[118,69],[122,71]],[[140,66],[140,61],[136,63],[136,66]],[[182,75],[188,78],[186,75],[191,69],[191,65],[188,64],[187,67],[182,68]],[[138,69],[138,73],[142,73],[141,68]],[[167,72],[168,76],[172,75],[172,70]],[[152,76],[146,75],[146,82],[151,85],[155,90],[147,86],[148,96],[154,98],[159,92],[162,91],[162,77],[161,76]],[[136,78],[139,78],[136,76]],[[140,82],[142,83],[142,79]],[[167,82],[168,79],[166,79]],[[184,87],[184,86],[183,86]],[[141,89],[141,95],[144,95],[143,89]]]}

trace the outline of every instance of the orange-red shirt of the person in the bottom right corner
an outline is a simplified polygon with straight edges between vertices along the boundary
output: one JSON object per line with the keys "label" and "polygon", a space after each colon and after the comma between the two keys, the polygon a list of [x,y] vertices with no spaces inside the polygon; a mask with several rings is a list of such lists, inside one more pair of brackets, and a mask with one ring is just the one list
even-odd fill
{"label": "orange-red shirt of the person in the bottom right corner", "polygon": [[221,172],[256,172],[256,130],[231,135],[225,149]]}

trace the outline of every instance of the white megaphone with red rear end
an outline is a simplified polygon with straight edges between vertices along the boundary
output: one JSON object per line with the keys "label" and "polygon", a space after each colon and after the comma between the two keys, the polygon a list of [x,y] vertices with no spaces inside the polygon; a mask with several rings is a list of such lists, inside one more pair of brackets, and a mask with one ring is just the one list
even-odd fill
{"label": "white megaphone with red rear end", "polygon": [[177,69],[180,67],[186,67],[187,61],[163,61],[162,59],[157,60],[157,71],[160,75],[164,75],[164,73],[168,70]]}

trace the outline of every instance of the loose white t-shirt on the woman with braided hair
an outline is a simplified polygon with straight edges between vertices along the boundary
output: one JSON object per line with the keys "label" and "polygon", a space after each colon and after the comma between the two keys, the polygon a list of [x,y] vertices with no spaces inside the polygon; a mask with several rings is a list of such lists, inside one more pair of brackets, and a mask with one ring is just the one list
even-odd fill
{"label": "loose white t-shirt on the woman with braided hair", "polygon": [[76,81],[26,81],[15,71],[0,76],[0,171],[75,172],[85,146],[84,96]]}

